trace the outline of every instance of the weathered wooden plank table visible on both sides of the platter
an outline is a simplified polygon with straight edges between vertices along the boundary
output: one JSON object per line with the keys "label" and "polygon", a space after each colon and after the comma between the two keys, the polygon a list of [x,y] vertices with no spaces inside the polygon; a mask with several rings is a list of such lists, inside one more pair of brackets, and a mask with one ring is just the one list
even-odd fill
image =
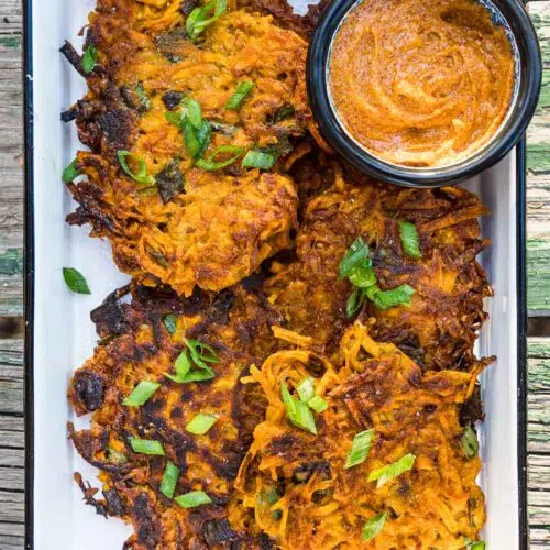
{"label": "weathered wooden plank table visible on both sides of the platter", "polygon": [[[538,320],[550,318],[550,0],[531,2],[529,12],[541,40],[544,75],[539,109],[528,132],[528,307],[531,326],[550,336],[549,324]],[[0,339],[0,550],[23,548],[24,534],[21,44],[20,0],[0,0],[0,333],[4,332]],[[529,525],[531,549],[540,549],[550,548],[550,338],[529,338],[528,353]]]}

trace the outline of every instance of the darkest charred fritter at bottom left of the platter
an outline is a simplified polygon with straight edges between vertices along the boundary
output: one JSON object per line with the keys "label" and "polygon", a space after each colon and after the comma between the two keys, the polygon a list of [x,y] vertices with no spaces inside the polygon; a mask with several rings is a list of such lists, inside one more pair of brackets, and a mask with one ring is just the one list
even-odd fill
{"label": "darkest charred fritter at bottom left of the platter", "polygon": [[[101,514],[130,519],[135,535],[125,548],[193,548],[208,541],[223,526],[226,503],[252,431],[262,420],[265,397],[240,377],[261,362],[273,341],[270,327],[277,315],[254,292],[242,287],[216,298],[195,293],[180,299],[174,293],[135,288],[131,304],[113,293],[92,312],[103,338],[92,359],[76,371],[69,399],[77,415],[91,414],[89,430],[69,433],[80,455],[101,471],[102,499],[88,498]],[[170,334],[166,316],[173,316]],[[185,345],[183,337],[210,344],[219,358],[215,377],[178,384],[174,362]],[[158,382],[158,391],[141,407],[122,400],[143,380]],[[185,427],[197,414],[216,415],[206,436]],[[132,437],[161,442],[164,457],[132,451]],[[205,491],[213,505],[184,510],[160,491],[166,461],[178,471],[176,494]],[[221,524],[220,524],[221,521]]]}

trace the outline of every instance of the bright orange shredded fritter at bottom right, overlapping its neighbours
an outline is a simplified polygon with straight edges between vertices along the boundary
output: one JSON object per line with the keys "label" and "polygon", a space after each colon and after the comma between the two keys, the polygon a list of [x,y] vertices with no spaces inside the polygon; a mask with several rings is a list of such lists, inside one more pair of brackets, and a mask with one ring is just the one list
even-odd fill
{"label": "bright orange shredded fritter at bottom right, overlapping its neighbours", "polygon": [[[282,549],[461,549],[484,522],[475,477],[481,462],[460,441],[457,405],[472,393],[484,363],[471,373],[420,367],[393,344],[372,340],[359,321],[343,336],[338,362],[311,372],[308,351],[272,355],[249,382],[262,385],[266,420],[239,473],[230,518],[248,522]],[[316,415],[317,436],[288,422],[280,385],[316,382],[328,408]],[[366,458],[344,468],[353,438],[373,430]],[[378,469],[409,457],[413,466],[385,483],[369,481]],[[410,466],[410,465],[409,465]],[[385,514],[376,538],[362,531]]]}

